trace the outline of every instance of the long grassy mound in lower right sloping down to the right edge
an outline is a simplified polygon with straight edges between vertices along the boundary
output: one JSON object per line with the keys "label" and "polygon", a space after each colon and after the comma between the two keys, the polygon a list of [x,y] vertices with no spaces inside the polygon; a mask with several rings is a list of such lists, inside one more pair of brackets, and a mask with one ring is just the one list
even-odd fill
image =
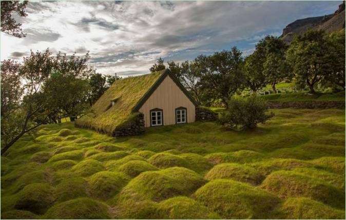
{"label": "long grassy mound in lower right sloping down to the right edge", "polygon": [[280,197],[308,197],[336,208],[345,205],[345,194],[335,186],[293,171],[273,172],[261,187]]}

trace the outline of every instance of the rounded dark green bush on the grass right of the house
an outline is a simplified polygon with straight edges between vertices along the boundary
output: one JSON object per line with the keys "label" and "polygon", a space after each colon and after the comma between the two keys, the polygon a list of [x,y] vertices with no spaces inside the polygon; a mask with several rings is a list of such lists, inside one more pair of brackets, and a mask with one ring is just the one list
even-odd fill
{"label": "rounded dark green bush on the grass right of the house", "polygon": [[265,123],[273,116],[265,114],[268,109],[265,101],[257,95],[251,95],[245,99],[231,97],[228,100],[228,108],[221,113],[218,122],[230,128],[253,129],[258,123]]}

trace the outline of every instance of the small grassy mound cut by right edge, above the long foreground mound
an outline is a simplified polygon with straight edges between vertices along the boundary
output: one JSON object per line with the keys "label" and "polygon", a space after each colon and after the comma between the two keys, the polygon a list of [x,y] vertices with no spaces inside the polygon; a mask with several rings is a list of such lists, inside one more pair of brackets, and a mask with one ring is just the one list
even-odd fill
{"label": "small grassy mound cut by right edge, above the long foreground mound", "polygon": [[326,156],[326,157],[314,159],[312,163],[323,169],[330,170],[332,172],[336,172],[339,174],[345,173],[345,157]]}

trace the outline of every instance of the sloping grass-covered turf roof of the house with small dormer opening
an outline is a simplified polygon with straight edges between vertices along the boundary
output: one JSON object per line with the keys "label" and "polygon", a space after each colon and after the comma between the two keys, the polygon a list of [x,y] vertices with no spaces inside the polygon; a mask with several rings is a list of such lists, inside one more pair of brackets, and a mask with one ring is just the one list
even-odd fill
{"label": "sloping grass-covered turf roof of the house with small dormer opening", "polygon": [[[139,112],[132,112],[133,107],[136,106],[163,72],[164,70],[141,76],[127,77],[114,82],[91,107],[93,113],[81,117],[75,122],[75,125],[112,134],[116,128],[131,121],[139,114]],[[115,101],[113,106],[112,101]]]}

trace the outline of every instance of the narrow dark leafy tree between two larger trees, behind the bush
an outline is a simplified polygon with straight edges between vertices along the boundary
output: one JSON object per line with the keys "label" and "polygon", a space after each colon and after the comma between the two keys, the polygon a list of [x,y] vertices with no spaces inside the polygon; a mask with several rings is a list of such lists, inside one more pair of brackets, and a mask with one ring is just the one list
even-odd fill
{"label": "narrow dark leafy tree between two larger trees, behind the bush", "polygon": [[249,55],[245,58],[244,62],[246,86],[254,92],[262,89],[267,84],[263,73],[263,63],[257,54],[258,53],[255,52],[252,55]]}

